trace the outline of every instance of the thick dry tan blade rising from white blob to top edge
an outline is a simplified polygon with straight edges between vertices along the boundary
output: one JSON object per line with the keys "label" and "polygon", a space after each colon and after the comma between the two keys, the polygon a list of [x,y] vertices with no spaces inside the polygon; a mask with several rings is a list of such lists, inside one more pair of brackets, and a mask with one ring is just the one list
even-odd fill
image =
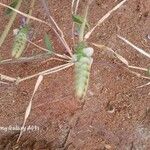
{"label": "thick dry tan blade rising from white blob to top edge", "polygon": [[85,39],[88,39],[92,32],[101,24],[103,23],[114,11],[120,8],[127,0],[123,0],[118,5],[116,5],[113,9],[111,9],[108,13],[106,13],[98,22],[97,24],[85,35]]}

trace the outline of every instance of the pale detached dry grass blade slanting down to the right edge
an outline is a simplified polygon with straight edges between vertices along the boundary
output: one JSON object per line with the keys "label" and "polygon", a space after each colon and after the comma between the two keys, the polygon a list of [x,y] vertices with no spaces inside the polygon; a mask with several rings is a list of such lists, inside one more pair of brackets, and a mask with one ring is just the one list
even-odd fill
{"label": "pale detached dry grass blade slanting down to the right edge", "polygon": [[135,46],[134,44],[132,44],[130,41],[128,41],[127,39],[125,39],[124,37],[117,35],[121,40],[123,40],[125,43],[129,44],[131,47],[133,47],[135,50],[137,50],[139,53],[145,55],[146,57],[150,58],[150,53],[145,52],[143,49],[138,48],[137,46]]}

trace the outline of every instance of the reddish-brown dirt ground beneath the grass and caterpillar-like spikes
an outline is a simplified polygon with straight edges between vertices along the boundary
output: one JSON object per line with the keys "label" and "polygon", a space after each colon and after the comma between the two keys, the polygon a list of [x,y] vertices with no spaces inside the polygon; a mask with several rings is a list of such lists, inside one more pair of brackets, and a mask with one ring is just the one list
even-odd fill
{"label": "reddish-brown dirt ground beneath the grass and caterpillar-like spikes", "polygon": [[[9,4],[10,1],[3,0]],[[49,7],[56,22],[64,31],[71,45],[71,1],[49,0]],[[89,23],[92,27],[120,0],[95,0],[90,6]],[[21,10],[27,12],[28,3]],[[81,0],[79,11],[85,8]],[[0,7],[0,33],[9,18]],[[43,19],[45,14],[39,1],[33,15]],[[13,29],[17,28],[18,15]],[[46,20],[47,18],[45,18]],[[47,32],[53,39],[57,52],[65,50],[51,29],[30,21],[33,42],[43,46]],[[12,30],[0,48],[2,59],[10,58]],[[149,60],[117,38],[126,37],[135,45],[150,51],[150,0],[128,0],[114,12],[96,31],[88,42],[105,44],[124,56],[132,65],[150,67]],[[150,87],[137,88],[148,82],[131,74],[110,53],[95,49],[90,84],[85,105],[74,96],[74,68],[71,67],[44,78],[34,100],[26,130],[18,144],[21,127],[36,79],[20,85],[0,85],[0,150],[149,150],[150,149]],[[24,55],[38,53],[29,46]],[[25,77],[59,65],[56,61],[33,61],[0,65],[0,73],[12,77]]]}

